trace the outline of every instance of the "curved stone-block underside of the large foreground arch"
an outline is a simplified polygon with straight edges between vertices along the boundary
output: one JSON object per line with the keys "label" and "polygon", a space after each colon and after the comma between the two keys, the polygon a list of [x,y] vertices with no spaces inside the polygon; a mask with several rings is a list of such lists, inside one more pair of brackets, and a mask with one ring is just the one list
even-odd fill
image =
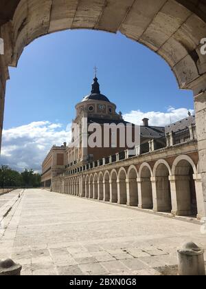
{"label": "curved stone-block underside of the large foreground arch", "polygon": [[[186,2],[186,3],[185,3]],[[5,62],[16,66],[26,45],[45,34],[69,29],[121,32],[159,54],[179,87],[205,74],[200,41],[205,37],[206,4],[174,0],[21,0],[1,27]]]}

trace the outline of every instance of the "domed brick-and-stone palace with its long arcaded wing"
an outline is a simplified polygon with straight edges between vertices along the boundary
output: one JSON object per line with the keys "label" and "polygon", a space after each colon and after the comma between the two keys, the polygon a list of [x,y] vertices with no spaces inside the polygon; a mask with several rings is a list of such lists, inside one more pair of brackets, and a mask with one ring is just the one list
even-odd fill
{"label": "domed brick-and-stone palace with its long arcaded wing", "polygon": [[[166,127],[150,126],[144,118],[139,141],[128,147],[127,142],[122,146],[120,138],[126,140],[129,129],[135,138],[136,126],[116,109],[101,94],[95,75],[91,94],[76,105],[71,142],[53,146],[43,161],[42,186],[58,193],[201,219],[205,211],[195,117],[189,114]],[[90,138],[97,145],[90,146]]]}

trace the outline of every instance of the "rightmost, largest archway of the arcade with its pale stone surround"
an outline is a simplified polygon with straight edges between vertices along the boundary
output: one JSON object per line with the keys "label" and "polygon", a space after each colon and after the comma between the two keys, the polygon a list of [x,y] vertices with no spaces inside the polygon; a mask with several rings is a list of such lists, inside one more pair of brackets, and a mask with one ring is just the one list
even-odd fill
{"label": "rightmost, largest archway of the arcade with its pale stone surround", "polygon": [[194,175],[197,173],[193,160],[179,156],[172,166],[172,213],[174,215],[196,216],[197,197]]}

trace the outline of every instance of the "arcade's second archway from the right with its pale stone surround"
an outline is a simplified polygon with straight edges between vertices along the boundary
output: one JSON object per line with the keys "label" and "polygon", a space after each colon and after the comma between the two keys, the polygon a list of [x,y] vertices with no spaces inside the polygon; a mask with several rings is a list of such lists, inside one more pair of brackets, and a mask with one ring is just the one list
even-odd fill
{"label": "arcade's second archway from the right with its pale stone surround", "polygon": [[153,210],[157,212],[172,211],[172,197],[169,176],[171,169],[165,160],[156,162],[153,169],[152,191],[153,191]]}

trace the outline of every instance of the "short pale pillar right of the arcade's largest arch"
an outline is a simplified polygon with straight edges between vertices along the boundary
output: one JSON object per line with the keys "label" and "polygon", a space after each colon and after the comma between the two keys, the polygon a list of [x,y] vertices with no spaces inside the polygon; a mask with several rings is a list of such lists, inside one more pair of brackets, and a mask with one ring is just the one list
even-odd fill
{"label": "short pale pillar right of the arcade's largest arch", "polygon": [[201,174],[198,173],[197,175],[193,175],[194,183],[195,183],[195,190],[196,190],[196,202],[197,202],[197,210],[198,220],[201,220],[205,217],[205,206],[204,206],[204,197],[203,197],[203,184]]}

